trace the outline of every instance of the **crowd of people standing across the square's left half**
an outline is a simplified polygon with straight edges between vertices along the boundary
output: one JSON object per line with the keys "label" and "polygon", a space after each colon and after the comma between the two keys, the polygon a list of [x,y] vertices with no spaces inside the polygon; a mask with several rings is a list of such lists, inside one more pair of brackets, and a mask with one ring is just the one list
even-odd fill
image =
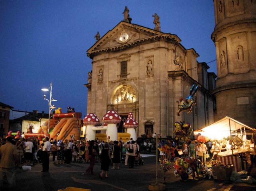
{"label": "crowd of people standing across the square's left half", "polygon": [[[143,160],[139,153],[140,147],[136,141],[98,141],[98,140],[49,140],[44,141],[38,138],[13,139],[7,137],[0,140],[0,187],[4,181],[10,187],[15,185],[15,169],[22,169],[22,166],[33,166],[42,163],[42,172],[49,171],[50,155],[52,163],[70,164],[71,162],[90,163],[86,169],[87,174],[94,174],[95,162],[101,163],[100,177],[108,177],[109,166],[112,169],[120,169],[120,163],[125,161],[129,168],[134,163],[142,164]],[[8,162],[7,162],[8,161]]]}

